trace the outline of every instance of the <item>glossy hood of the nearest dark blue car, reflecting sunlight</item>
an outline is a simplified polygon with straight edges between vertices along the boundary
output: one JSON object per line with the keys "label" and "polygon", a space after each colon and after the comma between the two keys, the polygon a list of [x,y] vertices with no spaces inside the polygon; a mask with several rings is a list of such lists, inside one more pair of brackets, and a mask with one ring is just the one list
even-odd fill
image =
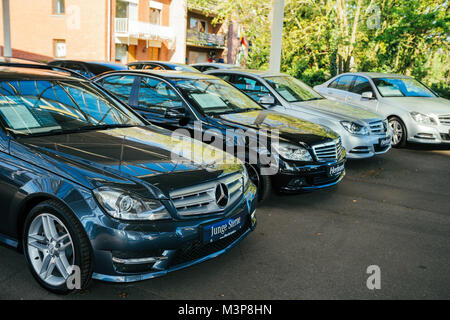
{"label": "glossy hood of the nearest dark blue car, reflecting sunlight", "polygon": [[[127,190],[134,188],[138,193],[145,189],[162,191],[167,196],[173,189],[199,184],[242,168],[240,163],[218,161],[224,154],[217,149],[211,154],[213,149],[201,142],[172,139],[169,131],[155,128],[117,128],[18,138],[16,142],[11,152],[18,157],[25,157],[36,166],[91,189],[120,185]],[[179,160],[173,157],[172,151],[194,150],[194,145],[201,153],[185,153]],[[203,156],[197,157],[200,154]]]}

